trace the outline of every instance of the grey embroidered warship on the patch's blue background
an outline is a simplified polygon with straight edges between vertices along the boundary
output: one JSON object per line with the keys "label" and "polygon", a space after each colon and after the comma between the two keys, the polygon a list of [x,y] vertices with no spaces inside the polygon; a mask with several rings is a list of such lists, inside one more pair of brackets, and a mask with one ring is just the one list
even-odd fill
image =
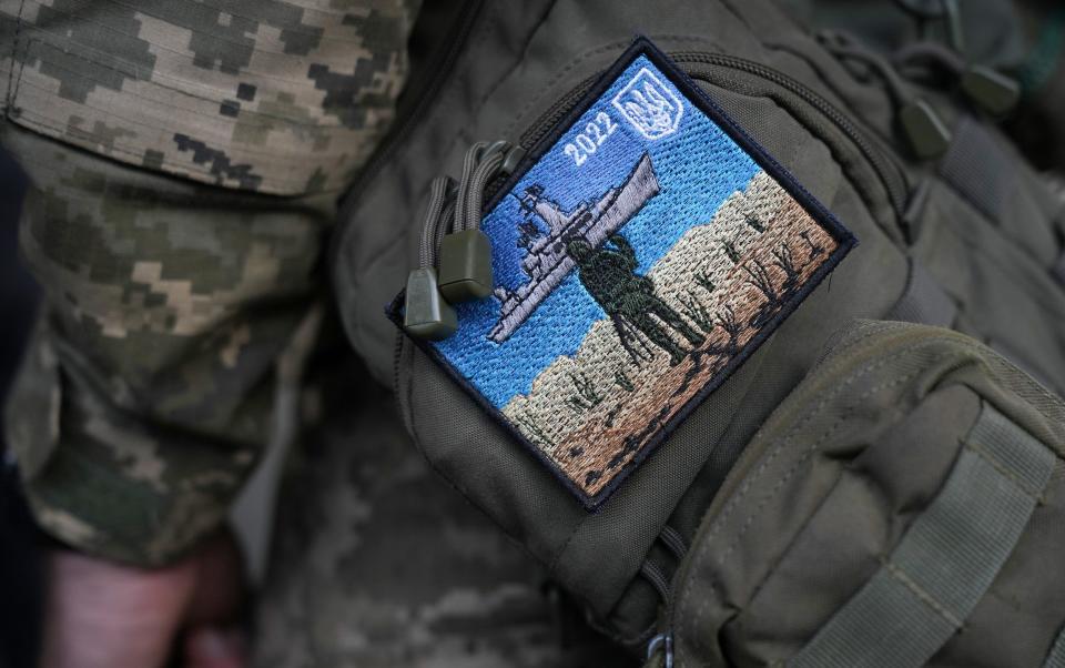
{"label": "grey embroidered warship on the patch's blue background", "polygon": [[547,232],[531,220],[521,225],[518,243],[526,250],[521,270],[529,280],[517,290],[496,289],[499,322],[488,338],[496,343],[509,338],[574,270],[576,263],[566,252],[570,241],[582,239],[591,247],[599,247],[658,193],[658,175],[647,153],[621,185],[608,190],[597,202],[581,202],[569,213],[545,198],[542,186],[526,189],[521,210],[528,216],[539,217],[547,225]]}

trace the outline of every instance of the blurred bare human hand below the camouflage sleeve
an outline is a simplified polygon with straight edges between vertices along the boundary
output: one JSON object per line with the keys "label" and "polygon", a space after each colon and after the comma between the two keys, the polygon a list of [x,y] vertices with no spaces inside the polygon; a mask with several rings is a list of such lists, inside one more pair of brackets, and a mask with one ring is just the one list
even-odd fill
{"label": "blurred bare human hand below the camouflage sleeve", "polygon": [[140,569],[55,550],[49,559],[43,668],[162,666],[182,631],[180,666],[242,668],[232,626],[243,586],[229,534],[182,561]]}

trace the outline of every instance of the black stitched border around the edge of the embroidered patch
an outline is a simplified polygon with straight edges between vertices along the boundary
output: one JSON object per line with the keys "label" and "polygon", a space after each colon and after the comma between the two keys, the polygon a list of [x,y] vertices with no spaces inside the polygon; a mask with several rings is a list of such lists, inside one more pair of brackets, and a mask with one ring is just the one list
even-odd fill
{"label": "black stitched border around the edge of the embroidered patch", "polygon": [[[555,126],[545,136],[537,141],[536,145],[529,150],[526,156],[518,164],[514,173],[496,191],[495,195],[485,204],[484,211],[491,211],[506,196],[510,190],[525,176],[525,174],[535,165],[548,150],[572,126],[586,111],[613,84],[615,80],[632,64],[640,55],[646,57],[658,70],[669,79],[670,83],[677,87],[677,90],[688,99],[688,102],[702,111],[710,118],[726,134],[729,135],[741,149],[743,149],[754,162],[768,172],[799,204],[810,214],[810,216],[824,229],[836,242],[836,249],[824,263],[818,267],[810,279],[803,283],[802,287],[789,300],[780,311],[744,345],[740,352],[726,364],[706,385],[692,396],[666,424],[656,433],[647,444],[637,452],[619,472],[617,472],[610,483],[595,495],[586,494],[577,484],[570,479],[555,462],[552,462],[540,448],[521,434],[516,426],[496,408],[485,396],[467,379],[450,362],[440,355],[429,342],[407,336],[423,353],[429,356],[437,366],[442,367],[453,381],[458,383],[474,402],[481,409],[488,413],[503,428],[516,438],[527,451],[537,457],[547,468],[557,477],[562,485],[577,497],[586,509],[592,512],[599,508],[618,487],[635,472],[643,460],[658,449],[666,438],[688,418],[691,413],[702,404],[706,398],[718,389],[731,375],[739,368],[747,358],[750,357],[761,344],[783,323],[798,306],[805,301],[810,293],[828,276],[832,270],[846,256],[850,251],[858,245],[858,239],[840,223],[832,213],[813,198],[791,173],[783,168],[777,160],[770,155],[760,144],[758,144],[740,125],[733,121],[723,109],[721,109],[699,85],[684,73],[670,58],[656,47],[651,41],[638,36],[632,44],[622,53],[618,60],[610,65],[596,81],[596,83],[584,94],[580,101],[569,113],[559,120]],[[400,290],[395,300],[386,307],[385,312],[388,318],[403,330],[403,298],[405,291]]]}

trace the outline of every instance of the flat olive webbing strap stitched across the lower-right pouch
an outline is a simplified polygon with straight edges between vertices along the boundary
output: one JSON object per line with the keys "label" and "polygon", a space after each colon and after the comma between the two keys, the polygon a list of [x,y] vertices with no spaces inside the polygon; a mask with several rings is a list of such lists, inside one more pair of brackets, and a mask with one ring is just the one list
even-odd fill
{"label": "flat olive webbing strap stitched across the lower-right pouch", "polygon": [[985,404],[939,496],[788,666],[927,662],[991,587],[1055,462],[1054,453]]}

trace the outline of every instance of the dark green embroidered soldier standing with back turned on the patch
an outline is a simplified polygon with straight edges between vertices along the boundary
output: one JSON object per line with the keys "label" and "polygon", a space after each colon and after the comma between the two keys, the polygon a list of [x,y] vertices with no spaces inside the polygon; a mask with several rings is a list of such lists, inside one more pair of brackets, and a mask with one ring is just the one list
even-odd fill
{"label": "dark green embroidered soldier standing with back turned on the patch", "polygon": [[669,363],[676,366],[687,352],[670,336],[669,330],[688,340],[692,347],[706,338],[655,293],[651,279],[636,273],[636,251],[628,240],[615,234],[609,243],[613,247],[604,244],[592,249],[584,239],[567,244],[569,256],[577,263],[581,285],[610,316],[630,354],[629,341],[635,330],[669,353]]}

